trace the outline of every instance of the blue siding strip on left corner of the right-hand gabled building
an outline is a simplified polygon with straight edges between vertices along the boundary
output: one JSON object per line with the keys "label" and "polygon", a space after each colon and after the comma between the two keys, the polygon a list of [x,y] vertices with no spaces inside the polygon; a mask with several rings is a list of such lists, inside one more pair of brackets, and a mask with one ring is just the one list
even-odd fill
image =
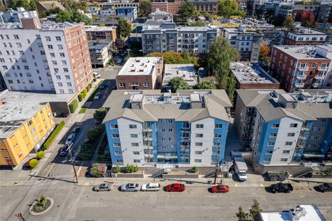
{"label": "blue siding strip on left corner of the right-hand gabled building", "polygon": [[268,146],[268,142],[275,142],[277,137],[270,137],[270,133],[278,133],[279,128],[272,128],[272,124],[279,124],[280,119],[276,119],[273,122],[266,122],[261,125],[261,134],[257,153],[257,162],[259,164],[270,164],[270,162],[264,162],[264,159],[271,159],[272,154],[266,155],[266,151],[273,151],[275,146]]}

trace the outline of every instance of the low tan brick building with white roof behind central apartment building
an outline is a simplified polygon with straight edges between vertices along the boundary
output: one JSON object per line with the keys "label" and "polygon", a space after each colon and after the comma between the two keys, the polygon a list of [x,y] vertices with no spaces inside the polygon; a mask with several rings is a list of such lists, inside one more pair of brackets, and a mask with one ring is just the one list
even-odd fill
{"label": "low tan brick building with white roof behind central apartment building", "polygon": [[162,57],[131,57],[116,76],[118,90],[160,89],[162,81]]}

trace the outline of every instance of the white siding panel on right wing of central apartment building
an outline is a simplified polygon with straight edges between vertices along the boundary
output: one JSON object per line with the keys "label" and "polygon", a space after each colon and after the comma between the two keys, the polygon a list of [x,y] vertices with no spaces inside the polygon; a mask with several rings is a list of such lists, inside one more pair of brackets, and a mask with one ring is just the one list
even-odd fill
{"label": "white siding panel on right wing of central apartment building", "polygon": [[[196,124],[204,124],[204,128],[196,128]],[[202,133],[203,138],[196,137],[196,133]],[[212,146],[214,137],[214,119],[208,117],[192,122],[191,143],[190,143],[190,164],[197,166],[211,165]],[[196,142],[203,142],[203,146],[195,146]],[[202,151],[201,155],[196,155],[195,151]],[[201,159],[201,163],[195,162],[195,159]]]}

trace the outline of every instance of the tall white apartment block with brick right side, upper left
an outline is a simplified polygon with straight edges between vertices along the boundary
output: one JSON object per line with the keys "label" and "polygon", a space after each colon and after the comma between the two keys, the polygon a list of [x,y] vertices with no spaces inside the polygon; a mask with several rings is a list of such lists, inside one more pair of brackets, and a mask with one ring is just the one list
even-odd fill
{"label": "tall white apartment block with brick right side, upper left", "polygon": [[93,79],[83,23],[0,26],[0,73],[8,90],[75,94]]}

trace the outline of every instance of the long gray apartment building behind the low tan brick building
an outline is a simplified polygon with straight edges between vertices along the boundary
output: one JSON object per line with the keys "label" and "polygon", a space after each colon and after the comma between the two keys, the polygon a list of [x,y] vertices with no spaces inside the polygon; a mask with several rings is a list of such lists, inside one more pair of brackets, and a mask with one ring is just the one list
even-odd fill
{"label": "long gray apartment building behind the low tan brick building", "polygon": [[176,26],[175,23],[156,22],[143,26],[143,54],[151,52],[184,52],[202,54],[208,52],[214,38],[219,36],[219,28],[211,26]]}

